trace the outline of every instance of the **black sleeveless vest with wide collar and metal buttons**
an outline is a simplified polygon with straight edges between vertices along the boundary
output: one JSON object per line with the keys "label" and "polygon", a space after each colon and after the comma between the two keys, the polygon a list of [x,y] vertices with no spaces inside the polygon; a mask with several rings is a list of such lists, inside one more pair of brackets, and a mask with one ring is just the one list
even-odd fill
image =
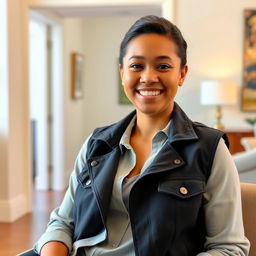
{"label": "black sleeveless vest with wide collar and metal buttons", "polygon": [[[98,128],[88,142],[78,176],[74,241],[106,227],[113,181],[121,154],[119,142],[132,112]],[[175,104],[168,142],[141,174],[129,196],[129,216],[138,256],[195,256],[204,251],[203,193],[219,140],[226,135],[188,119]]]}

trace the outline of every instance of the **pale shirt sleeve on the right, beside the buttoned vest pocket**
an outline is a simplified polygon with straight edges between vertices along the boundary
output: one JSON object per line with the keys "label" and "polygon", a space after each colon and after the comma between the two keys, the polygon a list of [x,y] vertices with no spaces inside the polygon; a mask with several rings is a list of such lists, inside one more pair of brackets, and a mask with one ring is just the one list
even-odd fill
{"label": "pale shirt sleeve on the right, beside the buttoned vest pocket", "polygon": [[241,191],[232,156],[221,139],[206,185],[206,252],[200,256],[247,256],[250,243],[244,235]]}

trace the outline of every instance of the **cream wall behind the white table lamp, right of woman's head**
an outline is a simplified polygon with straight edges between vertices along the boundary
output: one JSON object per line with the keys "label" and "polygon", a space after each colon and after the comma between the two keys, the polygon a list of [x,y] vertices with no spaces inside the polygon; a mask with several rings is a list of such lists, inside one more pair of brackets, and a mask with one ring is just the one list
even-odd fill
{"label": "cream wall behind the white table lamp, right of woman's head", "polygon": [[[192,119],[214,123],[214,108],[200,105],[200,82],[231,79],[242,84],[243,10],[256,8],[255,0],[179,0],[176,23],[188,42],[189,73],[177,101]],[[223,109],[226,128],[250,128],[244,118],[255,116],[236,106]]]}

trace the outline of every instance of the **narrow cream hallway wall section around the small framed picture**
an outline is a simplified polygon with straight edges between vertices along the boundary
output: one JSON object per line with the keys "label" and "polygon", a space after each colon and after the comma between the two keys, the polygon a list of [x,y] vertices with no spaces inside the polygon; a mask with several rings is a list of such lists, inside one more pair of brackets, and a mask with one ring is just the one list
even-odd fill
{"label": "narrow cream hallway wall section around the small framed picture", "polygon": [[[63,20],[64,42],[64,168],[67,174],[73,168],[75,157],[84,140],[86,116],[85,98],[71,99],[71,62],[72,52],[84,53],[84,26],[82,19]],[[67,177],[66,177],[67,178]]]}

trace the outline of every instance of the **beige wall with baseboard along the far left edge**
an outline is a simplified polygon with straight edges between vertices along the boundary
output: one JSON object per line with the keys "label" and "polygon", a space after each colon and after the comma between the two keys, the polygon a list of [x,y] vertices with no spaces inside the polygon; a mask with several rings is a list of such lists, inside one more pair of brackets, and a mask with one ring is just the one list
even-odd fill
{"label": "beige wall with baseboard along the far left edge", "polygon": [[25,5],[2,0],[0,6],[0,221],[13,221],[31,208]]}

